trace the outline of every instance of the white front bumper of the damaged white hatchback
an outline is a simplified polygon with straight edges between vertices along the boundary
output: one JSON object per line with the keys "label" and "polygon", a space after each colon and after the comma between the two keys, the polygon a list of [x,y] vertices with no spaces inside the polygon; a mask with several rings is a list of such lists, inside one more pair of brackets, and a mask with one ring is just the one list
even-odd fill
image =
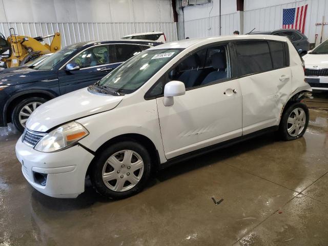
{"label": "white front bumper of the damaged white hatchback", "polygon": [[[58,198],[75,198],[84,192],[87,169],[94,157],[78,145],[53,153],[39,152],[24,144],[22,137],[16,144],[16,156],[30,185]],[[41,184],[36,175],[44,175],[45,183]]]}

